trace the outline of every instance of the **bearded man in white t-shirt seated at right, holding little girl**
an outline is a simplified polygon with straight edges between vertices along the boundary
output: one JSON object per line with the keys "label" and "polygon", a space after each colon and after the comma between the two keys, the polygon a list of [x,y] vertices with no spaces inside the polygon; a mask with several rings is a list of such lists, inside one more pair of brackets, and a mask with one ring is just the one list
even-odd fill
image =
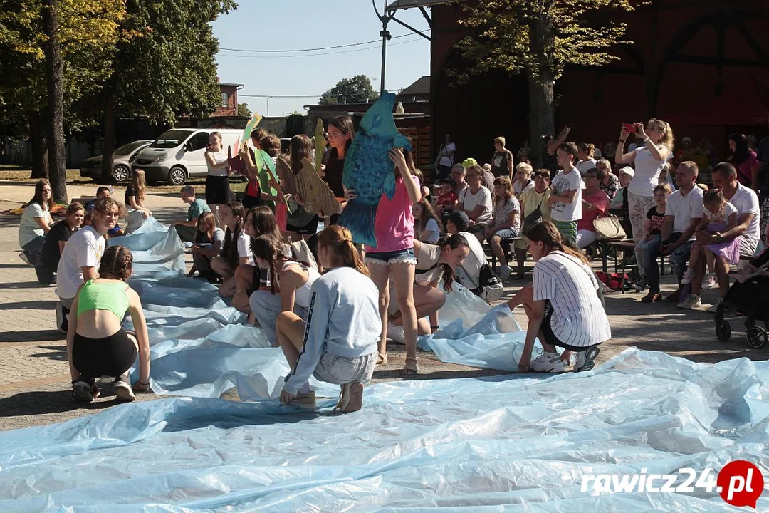
{"label": "bearded man in white t-shirt seated at right, holding little girl", "polygon": [[[721,233],[698,232],[697,242],[701,245],[717,244],[719,242],[729,242],[735,238],[740,239],[740,256],[752,257],[756,252],[758,241],[761,239],[759,233],[759,222],[761,209],[758,205],[758,195],[751,188],[747,188],[737,182],[737,170],[729,162],[721,162],[714,166],[711,172],[713,176],[713,185],[724,192],[724,198],[730,202],[734,208],[737,208],[739,216],[737,217],[737,226]],[[669,199],[667,200],[670,201]],[[694,268],[694,278],[691,281],[691,299],[694,307],[700,304],[700,293],[702,289],[702,278],[705,275],[704,258],[697,262]],[[719,298],[710,311],[715,311],[721,303],[725,291],[729,285],[729,267],[728,265],[716,265],[716,276],[718,285],[721,288],[721,298]]]}

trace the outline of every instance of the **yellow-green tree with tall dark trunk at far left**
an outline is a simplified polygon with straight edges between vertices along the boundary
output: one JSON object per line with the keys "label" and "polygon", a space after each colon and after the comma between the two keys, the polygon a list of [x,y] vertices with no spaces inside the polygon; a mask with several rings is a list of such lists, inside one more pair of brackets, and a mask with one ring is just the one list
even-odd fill
{"label": "yellow-green tree with tall dark trunk at far left", "polygon": [[0,125],[29,136],[32,176],[50,175],[58,202],[65,128],[83,124],[82,99],[104,81],[124,15],[124,0],[0,0],[0,65],[13,70],[0,75]]}

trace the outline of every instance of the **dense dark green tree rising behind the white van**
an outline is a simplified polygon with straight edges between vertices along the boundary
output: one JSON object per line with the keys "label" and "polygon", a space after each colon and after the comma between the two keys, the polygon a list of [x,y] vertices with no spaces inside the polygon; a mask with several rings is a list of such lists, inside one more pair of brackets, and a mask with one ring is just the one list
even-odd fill
{"label": "dense dark green tree rising behind the white van", "polygon": [[219,50],[211,22],[238,7],[233,0],[132,0],[107,81],[102,180],[112,175],[115,117],[145,115],[174,125],[177,115],[204,118],[221,102]]}

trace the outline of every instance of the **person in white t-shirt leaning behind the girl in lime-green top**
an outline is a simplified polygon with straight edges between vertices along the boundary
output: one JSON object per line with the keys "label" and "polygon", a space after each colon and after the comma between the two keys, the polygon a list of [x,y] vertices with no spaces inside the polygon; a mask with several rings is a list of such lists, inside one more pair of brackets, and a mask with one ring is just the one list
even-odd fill
{"label": "person in white t-shirt leaning behind the girl in lime-green top", "polygon": [[67,315],[80,285],[98,278],[99,262],[106,246],[104,235],[115,228],[119,215],[120,206],[114,199],[96,200],[91,225],[72,234],[64,246],[56,269],[56,295],[59,299],[56,327],[59,331],[67,332]]}

